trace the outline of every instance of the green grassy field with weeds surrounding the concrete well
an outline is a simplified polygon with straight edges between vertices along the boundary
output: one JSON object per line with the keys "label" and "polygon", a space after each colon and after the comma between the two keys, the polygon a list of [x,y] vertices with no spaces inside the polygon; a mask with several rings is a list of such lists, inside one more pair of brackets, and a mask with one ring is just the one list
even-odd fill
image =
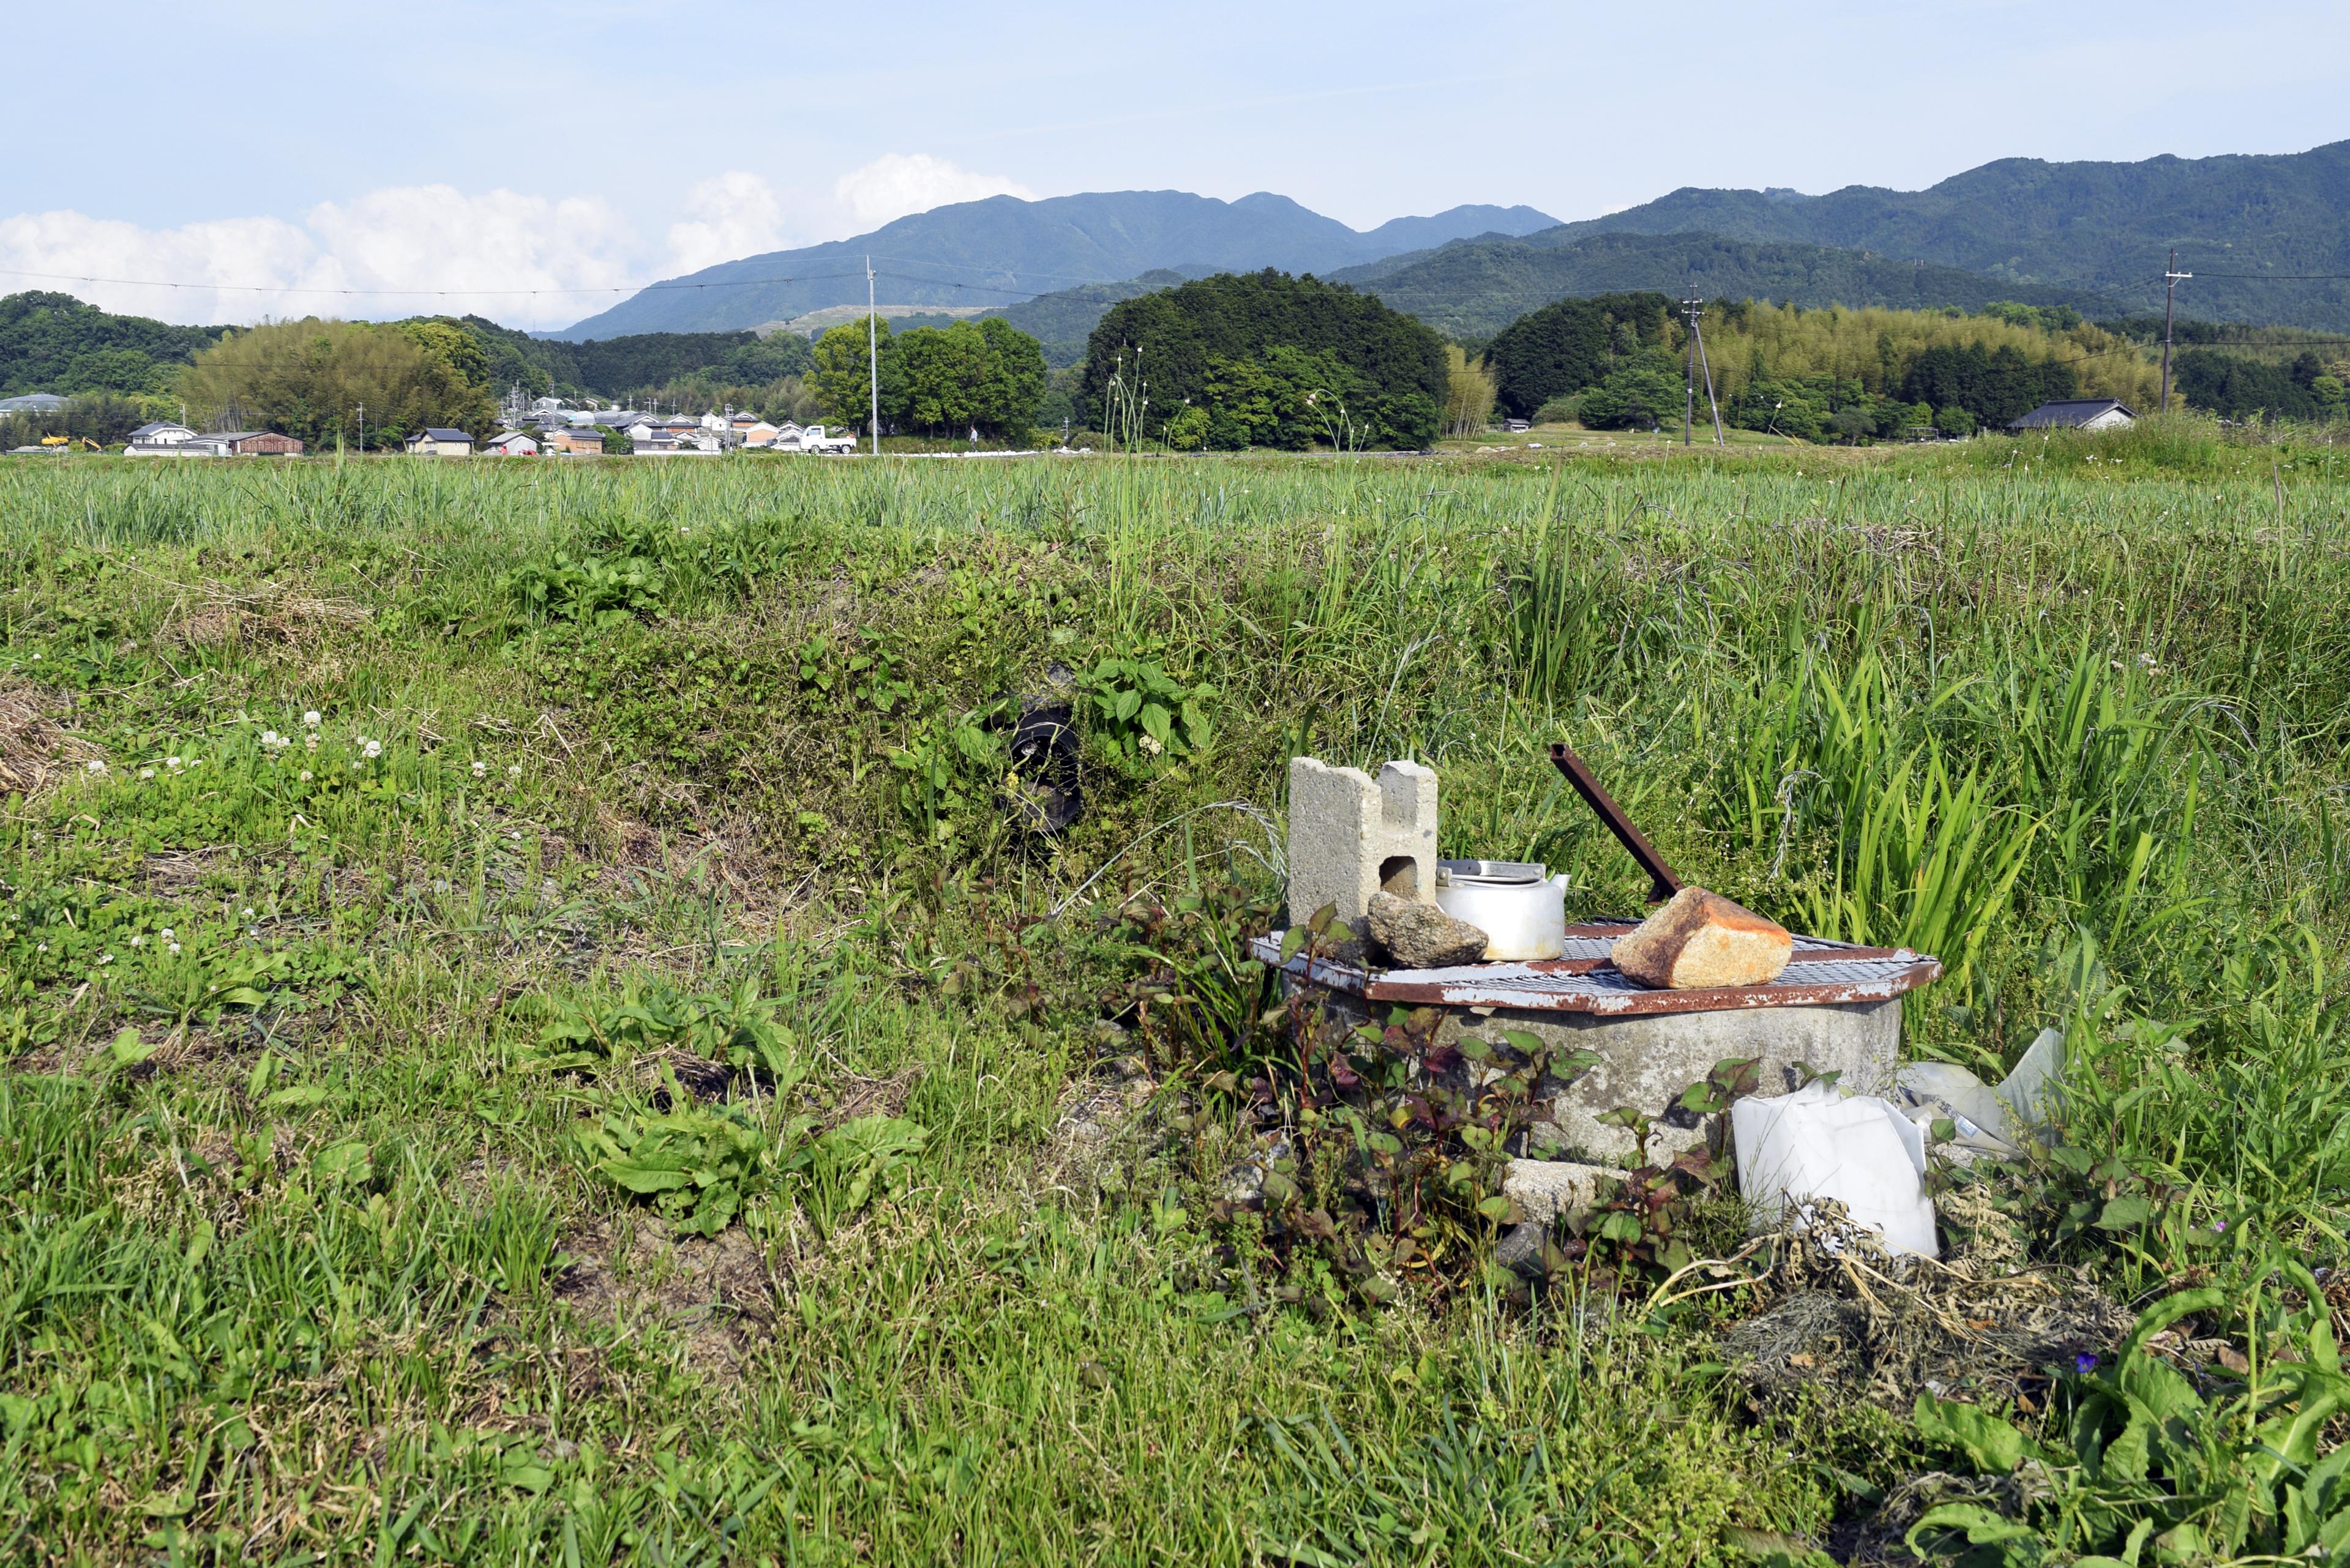
{"label": "green grassy field with weeds surrounding the concrete well", "polygon": [[[1981,1561],[2350,1530],[2343,456],[1619,456],[0,461],[0,1556],[1821,1561],[1969,1462]],[[1490,1225],[1276,1281],[1215,1072],[1283,762],[1633,912],[1551,738],[1939,952],[1911,1053],[2068,1030],[2016,1244],[2207,1291],[2207,1420],[1758,1408],[1739,1293],[1513,1300]]]}

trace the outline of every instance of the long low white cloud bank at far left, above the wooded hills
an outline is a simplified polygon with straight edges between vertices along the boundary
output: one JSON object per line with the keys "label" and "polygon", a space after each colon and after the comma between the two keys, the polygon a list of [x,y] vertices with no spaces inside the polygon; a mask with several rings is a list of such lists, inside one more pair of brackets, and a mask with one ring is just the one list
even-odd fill
{"label": "long low white cloud bank at far left, above the wooded hills", "polygon": [[[0,292],[56,289],[169,322],[477,310],[555,327],[642,277],[642,244],[597,197],[395,186],[322,202],[303,223],[141,228],[80,212],[0,219]],[[597,292],[588,292],[597,289]]]}

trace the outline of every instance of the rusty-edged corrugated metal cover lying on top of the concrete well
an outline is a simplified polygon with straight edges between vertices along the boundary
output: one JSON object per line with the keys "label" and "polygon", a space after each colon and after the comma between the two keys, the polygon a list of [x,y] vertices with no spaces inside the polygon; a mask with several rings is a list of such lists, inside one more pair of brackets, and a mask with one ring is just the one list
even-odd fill
{"label": "rusty-edged corrugated metal cover lying on top of the concrete well", "polygon": [[[1372,971],[1300,954],[1283,971],[1292,983],[1347,992],[1365,1001],[1591,1013],[1600,1018],[1887,1001],[1941,978],[1939,959],[1908,947],[1854,947],[1852,943],[1798,936],[1788,971],[1767,985],[1647,990],[1607,959],[1607,947],[1629,926],[1631,922],[1567,926],[1570,957],[1532,964]],[[1278,933],[1255,938],[1253,952],[1264,964],[1281,964]]]}

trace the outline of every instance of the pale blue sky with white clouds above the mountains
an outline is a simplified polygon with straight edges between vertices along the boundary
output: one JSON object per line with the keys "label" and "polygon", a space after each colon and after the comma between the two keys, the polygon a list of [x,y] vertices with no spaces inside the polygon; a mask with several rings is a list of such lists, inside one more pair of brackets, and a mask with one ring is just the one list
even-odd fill
{"label": "pale blue sky with white clouds above the mountains", "polygon": [[1274,190],[1370,228],[2296,153],[2350,136],[2345,12],[118,0],[0,59],[0,294],[562,327],[999,193]]}

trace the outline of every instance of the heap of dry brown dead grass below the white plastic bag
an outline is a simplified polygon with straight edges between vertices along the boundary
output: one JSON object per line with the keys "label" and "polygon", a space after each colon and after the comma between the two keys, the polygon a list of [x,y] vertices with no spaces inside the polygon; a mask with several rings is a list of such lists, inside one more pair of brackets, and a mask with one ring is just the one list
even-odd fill
{"label": "heap of dry brown dead grass below the white plastic bag", "polygon": [[[2033,1408],[2047,1368],[2103,1354],[2129,1314],[2087,1274],[2033,1267],[1976,1190],[1939,1199],[1946,1258],[1894,1258],[1842,1204],[1807,1204],[1687,1293],[1760,1286],[1762,1312],[1718,1335],[1755,1408],[1810,1392],[1908,1413],[1918,1394]],[[1753,1265],[1760,1265],[1755,1269]]]}

